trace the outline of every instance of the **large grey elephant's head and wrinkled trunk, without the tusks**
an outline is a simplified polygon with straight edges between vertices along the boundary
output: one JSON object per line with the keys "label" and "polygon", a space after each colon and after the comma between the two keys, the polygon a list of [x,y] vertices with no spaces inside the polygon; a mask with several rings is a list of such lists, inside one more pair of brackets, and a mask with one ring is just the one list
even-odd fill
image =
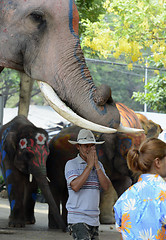
{"label": "large grey elephant's head and wrinkled trunk, without the tusks", "polygon": [[0,1],[0,70],[47,82],[81,117],[117,128],[111,89],[96,88],[80,47],[74,0]]}

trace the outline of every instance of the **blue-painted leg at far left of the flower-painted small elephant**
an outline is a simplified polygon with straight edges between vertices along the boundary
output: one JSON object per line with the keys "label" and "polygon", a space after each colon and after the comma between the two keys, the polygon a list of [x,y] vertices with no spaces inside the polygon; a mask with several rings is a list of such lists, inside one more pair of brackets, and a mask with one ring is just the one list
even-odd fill
{"label": "blue-painted leg at far left of the flower-painted small elephant", "polygon": [[23,207],[25,176],[17,169],[11,168],[8,168],[5,174],[10,202],[9,227],[25,227]]}

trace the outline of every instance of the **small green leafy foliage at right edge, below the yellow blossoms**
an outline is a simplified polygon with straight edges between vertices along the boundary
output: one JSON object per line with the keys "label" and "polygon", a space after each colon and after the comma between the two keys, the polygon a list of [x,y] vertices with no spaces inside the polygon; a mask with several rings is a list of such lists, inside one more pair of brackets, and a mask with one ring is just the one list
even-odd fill
{"label": "small green leafy foliage at right edge, below the yellow blossoms", "polygon": [[166,74],[151,78],[145,89],[147,93],[134,92],[133,98],[142,104],[146,103],[157,112],[166,113]]}

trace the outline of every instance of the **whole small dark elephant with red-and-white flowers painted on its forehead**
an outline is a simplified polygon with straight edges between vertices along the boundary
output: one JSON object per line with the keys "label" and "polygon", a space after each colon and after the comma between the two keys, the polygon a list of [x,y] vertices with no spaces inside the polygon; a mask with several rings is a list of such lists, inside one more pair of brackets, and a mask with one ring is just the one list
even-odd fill
{"label": "whole small dark elephant with red-and-white flowers painted on its forehead", "polygon": [[66,229],[48,185],[48,154],[48,133],[26,117],[17,116],[0,128],[0,166],[10,203],[9,227],[35,223],[34,206],[40,188],[58,228]]}

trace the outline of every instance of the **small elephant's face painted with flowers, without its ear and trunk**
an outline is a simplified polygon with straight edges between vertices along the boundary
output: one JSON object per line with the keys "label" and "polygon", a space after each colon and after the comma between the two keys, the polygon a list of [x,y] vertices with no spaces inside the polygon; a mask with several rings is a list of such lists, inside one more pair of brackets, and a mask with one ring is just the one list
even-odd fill
{"label": "small elephant's face painted with flowers, without its ear and trunk", "polygon": [[[35,131],[34,131],[35,130]],[[36,178],[46,177],[46,160],[49,154],[48,136],[44,129],[26,126],[16,134],[17,149],[14,164],[21,172]]]}

